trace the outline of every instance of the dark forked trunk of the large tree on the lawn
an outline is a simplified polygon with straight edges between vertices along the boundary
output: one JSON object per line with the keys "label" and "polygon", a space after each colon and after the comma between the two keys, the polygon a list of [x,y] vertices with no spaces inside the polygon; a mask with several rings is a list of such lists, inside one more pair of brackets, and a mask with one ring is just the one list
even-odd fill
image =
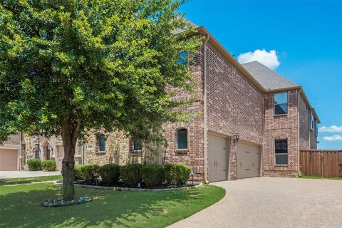
{"label": "dark forked trunk of the large tree on the lawn", "polygon": [[62,123],[62,139],[64,147],[64,157],[62,161],[63,176],[63,200],[71,201],[75,199],[75,147],[78,139],[79,122],[73,125],[71,130],[69,119],[65,118]]}

